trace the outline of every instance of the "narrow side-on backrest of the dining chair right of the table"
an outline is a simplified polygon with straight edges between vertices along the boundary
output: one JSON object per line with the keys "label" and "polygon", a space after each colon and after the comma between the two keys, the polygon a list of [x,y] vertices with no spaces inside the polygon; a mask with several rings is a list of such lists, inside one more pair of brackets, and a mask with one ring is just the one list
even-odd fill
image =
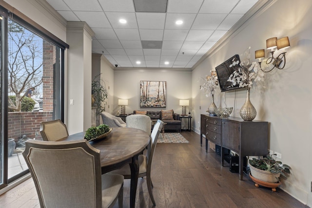
{"label": "narrow side-on backrest of the dining chair right of the table", "polygon": [[157,139],[159,136],[159,133],[162,129],[164,125],[164,122],[162,122],[161,120],[157,120],[156,124],[154,125],[152,134],[151,134],[151,148],[147,149],[147,168],[146,171],[150,172],[151,171],[151,166],[152,166],[152,160],[153,160],[153,156],[154,156],[154,152],[155,152],[155,148],[156,148],[156,144],[157,144]]}

